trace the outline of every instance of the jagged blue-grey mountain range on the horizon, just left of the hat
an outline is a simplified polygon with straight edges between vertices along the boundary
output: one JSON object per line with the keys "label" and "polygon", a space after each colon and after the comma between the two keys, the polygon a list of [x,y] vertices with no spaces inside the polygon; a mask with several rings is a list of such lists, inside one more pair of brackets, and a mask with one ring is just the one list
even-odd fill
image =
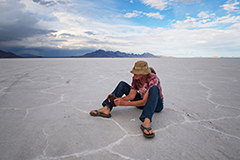
{"label": "jagged blue-grey mountain range on the horizon, just left of the hat", "polygon": [[[74,56],[73,56],[74,57]],[[104,51],[104,50],[97,50],[97,51],[94,51],[94,52],[91,52],[91,53],[87,53],[83,56],[76,56],[76,57],[80,57],[80,58],[107,58],[107,57],[126,57],[126,58],[135,58],[135,57],[145,57],[145,58],[150,58],[150,57],[159,57],[159,56],[155,56],[151,53],[143,53],[143,54],[129,54],[129,53],[125,53],[125,52],[120,52],[120,51],[116,51],[116,52],[113,52],[113,51]]]}

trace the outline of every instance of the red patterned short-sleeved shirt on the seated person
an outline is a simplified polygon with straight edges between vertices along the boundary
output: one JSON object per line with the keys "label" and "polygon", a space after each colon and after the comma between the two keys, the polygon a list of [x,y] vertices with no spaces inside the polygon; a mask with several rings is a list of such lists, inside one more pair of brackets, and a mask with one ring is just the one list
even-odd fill
{"label": "red patterned short-sleeved shirt on the seated person", "polygon": [[154,73],[148,74],[147,80],[143,85],[141,84],[140,80],[135,79],[135,76],[133,76],[131,89],[138,90],[139,94],[143,98],[147,91],[154,85],[158,86],[160,96],[163,102],[162,87],[160,85],[160,80]]}

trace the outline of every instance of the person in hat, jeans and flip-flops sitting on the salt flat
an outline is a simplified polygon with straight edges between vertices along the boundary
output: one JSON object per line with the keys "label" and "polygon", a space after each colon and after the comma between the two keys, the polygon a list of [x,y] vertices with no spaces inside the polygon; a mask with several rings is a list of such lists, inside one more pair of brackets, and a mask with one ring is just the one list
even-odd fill
{"label": "person in hat, jeans and flip-flops sitting on the salt flat", "polygon": [[[136,106],[143,110],[139,118],[143,122],[140,126],[142,132],[145,137],[152,138],[154,137],[150,127],[152,116],[154,112],[160,112],[163,109],[160,80],[145,61],[136,62],[131,73],[134,74],[132,85],[121,81],[102,103],[103,107],[92,110],[90,115],[110,118],[110,112],[114,106]],[[122,97],[124,94],[126,96]]]}

